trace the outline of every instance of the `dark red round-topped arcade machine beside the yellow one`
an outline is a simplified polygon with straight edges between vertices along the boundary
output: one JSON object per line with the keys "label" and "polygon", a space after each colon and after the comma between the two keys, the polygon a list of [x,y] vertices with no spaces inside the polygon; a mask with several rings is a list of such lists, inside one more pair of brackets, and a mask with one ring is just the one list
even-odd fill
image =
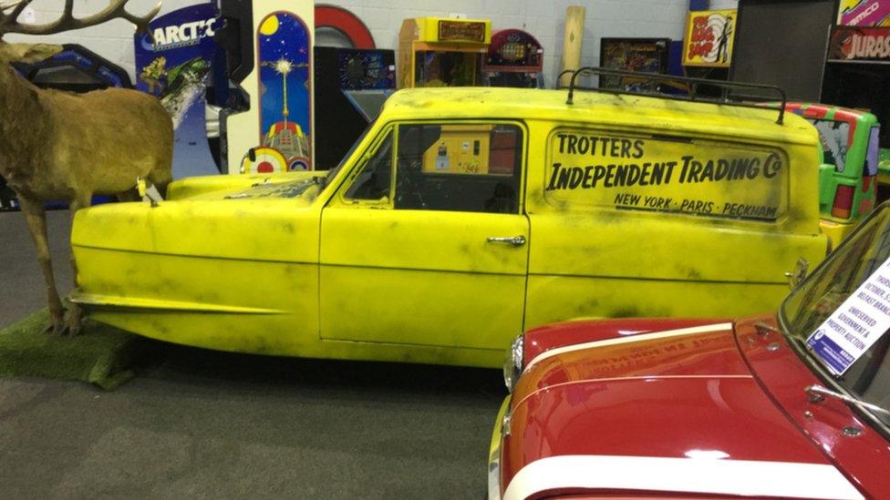
{"label": "dark red round-topped arcade machine beside the yellow one", "polygon": [[543,47],[521,29],[492,33],[492,45],[482,64],[490,87],[543,88]]}

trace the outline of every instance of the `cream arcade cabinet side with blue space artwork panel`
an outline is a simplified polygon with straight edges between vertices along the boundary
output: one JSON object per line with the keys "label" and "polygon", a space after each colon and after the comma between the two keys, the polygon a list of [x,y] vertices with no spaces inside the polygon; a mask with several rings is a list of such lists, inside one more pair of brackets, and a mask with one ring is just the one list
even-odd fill
{"label": "cream arcade cabinet side with blue space artwork panel", "polygon": [[227,169],[271,173],[313,168],[311,0],[219,0],[227,77],[242,111],[221,117]]}

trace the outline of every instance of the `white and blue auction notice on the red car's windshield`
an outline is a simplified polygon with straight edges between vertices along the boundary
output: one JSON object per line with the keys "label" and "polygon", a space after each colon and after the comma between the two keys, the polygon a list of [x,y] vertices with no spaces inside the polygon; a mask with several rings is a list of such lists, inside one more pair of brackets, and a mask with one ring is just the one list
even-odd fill
{"label": "white and blue auction notice on the red car's windshield", "polygon": [[837,375],[890,328],[890,259],[859,285],[807,339],[807,345]]}

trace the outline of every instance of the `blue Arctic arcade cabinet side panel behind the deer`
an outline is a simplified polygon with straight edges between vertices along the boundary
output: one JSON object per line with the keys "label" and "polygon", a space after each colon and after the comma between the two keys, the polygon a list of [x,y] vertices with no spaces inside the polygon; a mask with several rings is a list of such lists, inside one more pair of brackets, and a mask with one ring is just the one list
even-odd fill
{"label": "blue Arctic arcade cabinet side panel behind the deer", "polygon": [[187,6],[152,20],[150,35],[134,38],[136,88],[160,98],[173,118],[173,179],[220,173],[208,142],[205,97],[216,17],[212,4]]}

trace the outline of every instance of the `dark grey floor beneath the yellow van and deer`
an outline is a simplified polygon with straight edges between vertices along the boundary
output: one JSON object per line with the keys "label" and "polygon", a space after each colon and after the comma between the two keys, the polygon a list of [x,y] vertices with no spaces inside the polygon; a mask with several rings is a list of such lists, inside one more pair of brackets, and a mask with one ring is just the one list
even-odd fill
{"label": "dark grey floor beneath the yellow van and deer", "polygon": [[[49,214],[67,291],[67,212]],[[42,307],[0,213],[0,324]],[[0,379],[5,498],[481,498],[500,373],[164,346],[117,391]]]}

